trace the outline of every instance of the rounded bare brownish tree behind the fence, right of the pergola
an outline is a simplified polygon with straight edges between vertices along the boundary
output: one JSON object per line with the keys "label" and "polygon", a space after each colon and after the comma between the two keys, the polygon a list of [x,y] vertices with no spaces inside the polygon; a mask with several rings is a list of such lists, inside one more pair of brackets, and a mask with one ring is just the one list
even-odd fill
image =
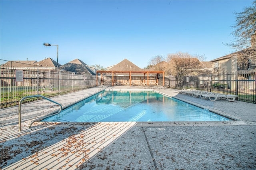
{"label": "rounded bare brownish tree behind the fence, right of the pergola", "polygon": [[168,69],[176,76],[178,87],[181,86],[184,76],[195,75],[198,72],[201,64],[198,57],[202,56],[182,52],[168,54],[166,58],[169,63]]}

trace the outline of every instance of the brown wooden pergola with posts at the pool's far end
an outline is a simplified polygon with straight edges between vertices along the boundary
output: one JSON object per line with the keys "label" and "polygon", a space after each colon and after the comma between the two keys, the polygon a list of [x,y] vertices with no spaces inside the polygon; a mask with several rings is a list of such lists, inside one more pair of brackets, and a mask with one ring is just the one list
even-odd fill
{"label": "brown wooden pergola with posts at the pool's far end", "polygon": [[[112,86],[114,86],[114,77],[116,77],[116,73],[129,73],[130,86],[132,85],[132,73],[143,73],[144,74],[144,80],[145,80],[145,75],[147,74],[147,85],[148,85],[148,77],[149,77],[150,73],[163,74],[163,86],[164,86],[164,71],[101,71],[101,70],[97,70],[96,71],[96,85],[97,86],[98,86],[98,73],[101,74],[101,81],[103,81],[102,80],[102,78],[103,78],[102,74],[103,73],[112,73]],[[157,79],[156,83],[158,83],[158,79]]]}

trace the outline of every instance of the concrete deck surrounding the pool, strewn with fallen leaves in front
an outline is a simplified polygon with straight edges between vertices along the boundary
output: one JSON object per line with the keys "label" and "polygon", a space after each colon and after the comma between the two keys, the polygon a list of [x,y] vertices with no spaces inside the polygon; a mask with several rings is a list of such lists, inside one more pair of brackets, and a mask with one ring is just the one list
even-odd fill
{"label": "concrete deck surrounding the pool, strewn with fallen leaves in front", "polygon": [[[65,107],[98,90],[94,87],[51,99]],[[41,100],[22,104],[22,132],[18,132],[18,106],[0,109],[0,169],[256,168],[255,104],[209,101],[174,89],[157,91],[240,121],[36,122],[28,128],[33,119],[58,109]]]}

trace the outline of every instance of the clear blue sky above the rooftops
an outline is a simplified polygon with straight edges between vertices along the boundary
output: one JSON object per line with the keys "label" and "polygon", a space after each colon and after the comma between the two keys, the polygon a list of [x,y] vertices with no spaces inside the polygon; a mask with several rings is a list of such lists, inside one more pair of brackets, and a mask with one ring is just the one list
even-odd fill
{"label": "clear blue sky above the rooftops", "polygon": [[[80,59],[104,67],[128,59],[140,68],[178,51],[206,61],[234,52],[234,12],[252,0],[0,1],[0,59]],[[5,63],[1,61],[0,63]]]}

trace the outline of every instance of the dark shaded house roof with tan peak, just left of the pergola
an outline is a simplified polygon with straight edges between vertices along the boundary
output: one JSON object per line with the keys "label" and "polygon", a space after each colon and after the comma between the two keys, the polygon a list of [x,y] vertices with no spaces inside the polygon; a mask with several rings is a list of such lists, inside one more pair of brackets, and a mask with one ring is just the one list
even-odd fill
{"label": "dark shaded house roof with tan peak, just left of the pergola", "polygon": [[94,73],[94,68],[90,67],[80,59],[74,59],[62,66],[59,67],[59,69],[63,69],[65,71],[71,71],[75,74],[82,74],[82,75],[96,75]]}

